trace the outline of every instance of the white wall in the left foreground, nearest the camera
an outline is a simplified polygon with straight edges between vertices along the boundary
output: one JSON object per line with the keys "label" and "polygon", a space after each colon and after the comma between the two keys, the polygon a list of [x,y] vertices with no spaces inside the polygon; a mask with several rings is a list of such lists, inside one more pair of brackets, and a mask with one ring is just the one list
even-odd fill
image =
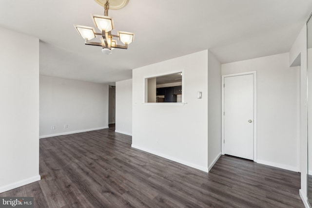
{"label": "white wall in the left foreground, nearest the camera", "polygon": [[3,28],[0,39],[0,192],[3,192],[40,180],[39,39]]}

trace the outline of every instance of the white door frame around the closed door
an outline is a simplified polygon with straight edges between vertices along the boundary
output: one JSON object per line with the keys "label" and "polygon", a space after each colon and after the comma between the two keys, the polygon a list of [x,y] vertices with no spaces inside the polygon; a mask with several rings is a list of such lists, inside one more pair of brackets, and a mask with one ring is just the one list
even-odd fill
{"label": "white door frame around the closed door", "polygon": [[221,117],[222,117],[222,125],[221,125],[221,151],[224,155],[224,78],[230,77],[230,76],[242,76],[242,75],[254,75],[254,162],[257,162],[257,72],[244,72],[244,73],[237,73],[237,74],[231,74],[231,75],[222,75],[222,95],[221,95],[221,102],[222,102],[222,111],[221,111]]}

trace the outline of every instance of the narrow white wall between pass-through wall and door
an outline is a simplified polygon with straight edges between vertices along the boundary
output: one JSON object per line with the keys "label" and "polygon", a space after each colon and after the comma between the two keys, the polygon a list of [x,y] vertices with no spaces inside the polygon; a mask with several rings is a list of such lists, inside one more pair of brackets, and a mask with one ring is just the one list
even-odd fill
{"label": "narrow white wall between pass-through wall and door", "polygon": [[221,156],[221,64],[208,52],[208,167]]}

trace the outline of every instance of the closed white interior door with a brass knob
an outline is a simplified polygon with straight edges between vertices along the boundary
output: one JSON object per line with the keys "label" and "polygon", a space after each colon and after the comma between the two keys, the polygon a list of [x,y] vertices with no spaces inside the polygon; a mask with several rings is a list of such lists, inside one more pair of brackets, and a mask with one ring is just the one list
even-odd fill
{"label": "closed white interior door with a brass knob", "polygon": [[254,75],[224,77],[224,153],[254,159]]}

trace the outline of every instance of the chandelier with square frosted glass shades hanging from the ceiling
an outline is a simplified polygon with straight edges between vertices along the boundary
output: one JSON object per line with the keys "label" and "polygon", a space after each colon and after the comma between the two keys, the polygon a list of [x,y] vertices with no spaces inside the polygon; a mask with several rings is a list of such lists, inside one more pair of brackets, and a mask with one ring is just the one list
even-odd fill
{"label": "chandelier with square frosted glass shades hanging from the ceiling", "polygon": [[[96,0],[97,1],[97,0]],[[135,34],[129,32],[118,31],[117,35],[113,35],[111,30],[114,29],[113,19],[108,17],[109,0],[106,0],[104,4],[104,16],[91,15],[95,26],[101,31],[98,33],[95,28],[74,25],[77,32],[84,39],[86,45],[102,46],[102,52],[104,54],[112,54],[112,50],[115,48],[128,49],[128,45],[134,41]],[[92,42],[93,38],[100,37],[100,42]],[[119,45],[122,42],[123,45]]]}

